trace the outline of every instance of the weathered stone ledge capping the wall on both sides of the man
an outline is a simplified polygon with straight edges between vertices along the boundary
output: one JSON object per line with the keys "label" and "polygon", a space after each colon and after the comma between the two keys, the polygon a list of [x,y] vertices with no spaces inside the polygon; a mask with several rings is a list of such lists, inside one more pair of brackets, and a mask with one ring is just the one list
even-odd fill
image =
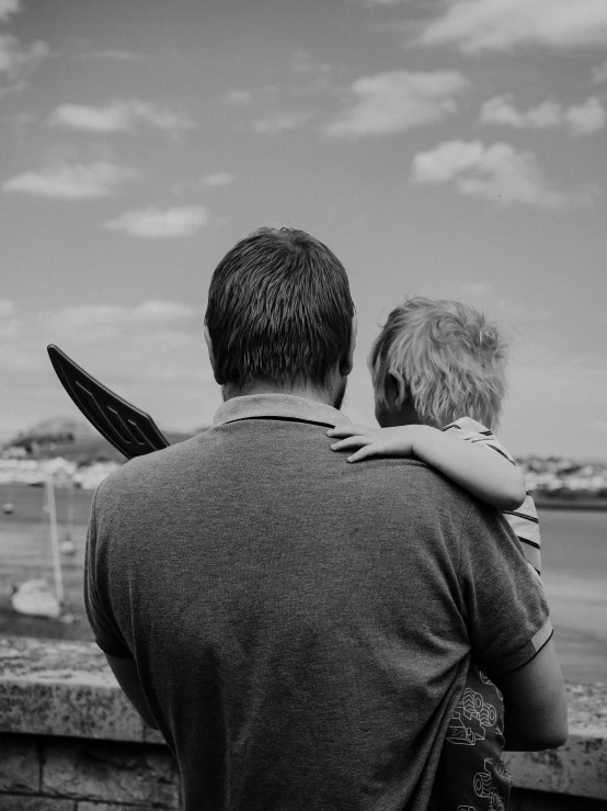
{"label": "weathered stone ledge capping the wall on both sides of the man", "polygon": [[[607,800],[607,686],[568,685],[568,743],[507,753],[514,786]],[[164,743],[94,643],[21,637],[0,637],[0,732]]]}

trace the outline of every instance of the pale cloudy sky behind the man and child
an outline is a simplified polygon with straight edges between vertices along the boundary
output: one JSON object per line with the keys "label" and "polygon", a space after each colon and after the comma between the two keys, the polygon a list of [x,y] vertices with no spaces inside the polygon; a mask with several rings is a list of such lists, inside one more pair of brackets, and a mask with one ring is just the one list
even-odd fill
{"label": "pale cloudy sky behind the man and child", "polygon": [[57,343],[163,428],[221,398],[213,271],[302,228],[358,312],[511,341],[514,452],[607,458],[606,0],[0,0],[0,439],[76,409]]}

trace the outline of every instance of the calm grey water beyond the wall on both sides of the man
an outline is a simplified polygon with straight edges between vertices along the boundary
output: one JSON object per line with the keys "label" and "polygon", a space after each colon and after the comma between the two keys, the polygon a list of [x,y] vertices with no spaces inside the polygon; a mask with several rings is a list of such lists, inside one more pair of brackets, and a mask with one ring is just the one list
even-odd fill
{"label": "calm grey water beyond the wall on both sides of the man", "polygon": [[[76,491],[76,556],[64,561],[72,626],[19,617],[10,610],[7,587],[31,576],[51,577],[44,491],[0,486],[0,504],[13,500],[13,516],[0,515],[0,633],[92,640],[82,604],[85,522],[92,493]],[[67,515],[66,491],[57,491],[60,523]],[[563,674],[571,682],[607,683],[607,511],[541,510],[543,583],[552,612]],[[64,528],[61,532],[64,532]]]}

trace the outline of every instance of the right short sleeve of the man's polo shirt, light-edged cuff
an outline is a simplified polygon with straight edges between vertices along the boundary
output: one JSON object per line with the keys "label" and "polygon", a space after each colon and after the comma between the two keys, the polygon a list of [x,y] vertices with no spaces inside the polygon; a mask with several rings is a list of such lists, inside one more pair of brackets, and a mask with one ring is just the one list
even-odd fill
{"label": "right short sleeve of the man's polo shirt, light-edged cuff", "polygon": [[481,502],[462,528],[459,575],[472,656],[495,676],[530,662],[552,635],[548,604],[507,521]]}

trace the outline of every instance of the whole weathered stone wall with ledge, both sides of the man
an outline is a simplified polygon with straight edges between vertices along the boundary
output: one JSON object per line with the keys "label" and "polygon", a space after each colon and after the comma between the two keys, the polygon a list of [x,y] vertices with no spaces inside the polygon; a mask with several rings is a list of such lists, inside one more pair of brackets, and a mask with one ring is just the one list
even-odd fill
{"label": "whole weathered stone wall with ledge, both sides of the man", "polygon": [[[568,689],[565,746],[507,755],[511,811],[607,809],[607,688]],[[96,645],[0,638],[0,811],[180,808],[175,762]]]}

